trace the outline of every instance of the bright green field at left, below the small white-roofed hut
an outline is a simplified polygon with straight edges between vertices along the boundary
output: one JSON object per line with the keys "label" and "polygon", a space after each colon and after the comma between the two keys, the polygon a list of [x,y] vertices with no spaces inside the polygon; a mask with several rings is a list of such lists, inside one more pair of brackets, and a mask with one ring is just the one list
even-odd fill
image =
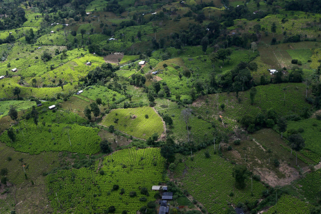
{"label": "bright green field at left, below the small white-roofed hut", "polygon": [[[46,110],[47,107],[44,107]],[[46,122],[43,126],[42,122]],[[100,151],[98,136],[99,129],[78,125],[85,120],[74,113],[63,111],[46,111],[39,115],[38,127],[33,119],[20,122],[23,131],[16,133],[16,140],[12,143],[6,132],[0,135],[0,141],[5,142],[7,146],[14,147],[15,150],[28,152],[30,154],[39,154],[43,151],[70,151],[83,154],[95,154]],[[50,125],[50,126],[48,126]],[[65,127],[70,127],[67,130]],[[19,126],[13,127],[19,130]],[[48,131],[51,129],[51,133]],[[70,136],[70,142],[68,137]],[[24,138],[25,140],[24,140]],[[52,139],[54,138],[54,139]],[[70,146],[71,144],[71,146]]]}

